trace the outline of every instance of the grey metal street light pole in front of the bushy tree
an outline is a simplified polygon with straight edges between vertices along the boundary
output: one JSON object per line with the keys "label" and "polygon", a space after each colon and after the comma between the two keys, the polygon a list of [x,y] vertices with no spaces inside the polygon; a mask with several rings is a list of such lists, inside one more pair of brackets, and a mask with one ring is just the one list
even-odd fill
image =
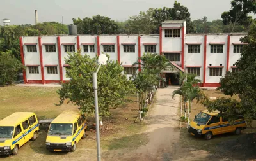
{"label": "grey metal street light pole in front of the bushy tree", "polygon": [[100,161],[100,127],[99,127],[99,108],[98,108],[98,85],[97,85],[97,73],[99,72],[101,64],[96,72],[92,74],[93,89],[94,89],[94,104],[95,104],[95,120],[96,120],[96,139],[97,139],[97,160]]}

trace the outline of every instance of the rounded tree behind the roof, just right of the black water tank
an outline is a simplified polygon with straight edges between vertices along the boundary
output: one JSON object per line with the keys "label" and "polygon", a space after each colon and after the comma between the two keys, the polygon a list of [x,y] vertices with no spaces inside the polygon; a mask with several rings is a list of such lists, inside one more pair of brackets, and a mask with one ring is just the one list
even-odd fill
{"label": "rounded tree behind the roof, just right of the black water tank", "polygon": [[116,34],[118,32],[118,24],[109,17],[100,15],[92,18],[85,17],[73,18],[74,25],[77,25],[78,34]]}

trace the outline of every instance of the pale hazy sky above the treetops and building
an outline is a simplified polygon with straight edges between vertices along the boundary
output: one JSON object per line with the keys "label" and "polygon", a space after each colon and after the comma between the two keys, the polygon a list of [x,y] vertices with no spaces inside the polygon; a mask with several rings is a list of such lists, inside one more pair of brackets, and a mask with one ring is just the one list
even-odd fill
{"label": "pale hazy sky above the treetops and building", "polygon": [[[1,1],[0,19],[9,18],[12,25],[35,24],[35,10],[39,22],[56,21],[72,24],[72,18],[102,15],[124,21],[148,8],[172,8],[175,0],[5,0]],[[223,11],[230,10],[231,0],[179,0],[189,9],[191,19],[204,16],[220,19]],[[3,25],[0,22],[1,25]]]}

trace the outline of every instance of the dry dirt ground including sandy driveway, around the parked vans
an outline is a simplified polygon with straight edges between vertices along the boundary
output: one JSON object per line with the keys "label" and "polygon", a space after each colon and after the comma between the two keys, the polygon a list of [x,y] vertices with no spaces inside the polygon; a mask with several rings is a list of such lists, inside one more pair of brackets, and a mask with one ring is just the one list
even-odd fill
{"label": "dry dirt ground including sandy driveway, around the parked vans", "polygon": [[[65,108],[75,108],[71,105],[64,105],[63,109],[54,106],[53,102],[58,101],[56,89],[58,88],[0,88],[0,92],[4,92],[1,93],[4,95],[0,95],[0,110],[6,111],[6,113],[0,113],[0,118],[10,113],[9,110],[13,112],[26,109],[26,106],[30,107],[29,110],[37,110],[38,116],[43,118],[58,115]],[[241,136],[234,134],[215,136],[209,141],[191,136],[186,129],[186,123],[180,122],[179,95],[173,100],[171,97],[173,90],[175,88],[168,87],[157,91],[154,104],[142,124],[133,123],[138,113],[136,95],[129,96],[133,102],[127,102],[125,106],[111,111],[113,115],[104,118],[104,128],[100,133],[102,160],[256,160],[253,153],[243,155],[243,146],[240,144],[245,141],[243,138],[248,138],[246,134],[256,132],[255,129],[246,129]],[[220,95],[215,91],[210,91],[208,94],[209,97]],[[9,104],[11,106],[8,106]],[[44,104],[47,108],[44,108]],[[202,107],[193,104],[193,108],[196,108],[195,113],[198,113]],[[88,123],[92,125],[94,118],[88,118]],[[0,159],[4,161],[97,160],[95,132],[88,131],[86,135],[86,139],[77,144],[77,150],[74,153],[50,153],[45,149],[46,133],[42,130],[40,137],[22,146],[17,156],[11,155],[0,157]],[[253,135],[250,137],[254,139]]]}

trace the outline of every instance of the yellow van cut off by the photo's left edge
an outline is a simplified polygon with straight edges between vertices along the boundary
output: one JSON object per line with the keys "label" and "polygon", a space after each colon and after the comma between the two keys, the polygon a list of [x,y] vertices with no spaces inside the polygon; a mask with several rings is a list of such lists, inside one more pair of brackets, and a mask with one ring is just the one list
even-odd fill
{"label": "yellow van cut off by the photo's left edge", "polygon": [[38,132],[35,113],[17,112],[0,120],[0,154],[17,155],[22,145],[36,139]]}

